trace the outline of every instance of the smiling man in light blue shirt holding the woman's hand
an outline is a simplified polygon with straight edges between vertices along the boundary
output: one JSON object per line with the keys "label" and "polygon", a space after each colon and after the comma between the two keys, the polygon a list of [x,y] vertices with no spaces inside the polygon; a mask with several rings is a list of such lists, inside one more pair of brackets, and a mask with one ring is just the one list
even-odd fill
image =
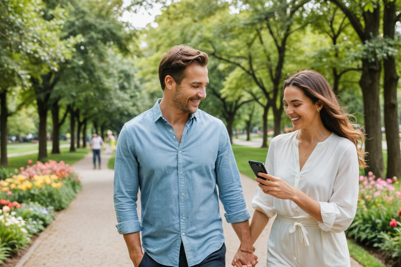
{"label": "smiling man in light blue shirt holding the woman's hand", "polygon": [[205,52],[172,47],[159,65],[163,98],[120,132],[114,204],[117,228],[135,267],[224,267],[219,197],[241,241],[238,265],[256,264],[249,211],[227,130],[223,122],[198,110],[206,97],[208,64]]}

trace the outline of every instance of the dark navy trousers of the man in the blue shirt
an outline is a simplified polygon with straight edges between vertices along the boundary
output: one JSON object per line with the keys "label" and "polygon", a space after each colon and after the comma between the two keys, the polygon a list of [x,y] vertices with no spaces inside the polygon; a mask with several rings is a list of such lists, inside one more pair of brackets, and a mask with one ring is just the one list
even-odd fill
{"label": "dark navy trousers of the man in the blue shirt", "polygon": [[[179,267],[188,267],[188,263],[185,257],[185,250],[184,246],[181,243],[180,248],[180,261],[178,263]],[[226,245],[223,243],[223,246],[207,256],[201,263],[194,265],[193,267],[225,267],[226,265]],[[140,262],[138,267],[169,267],[163,264],[156,262],[153,258],[149,255],[143,255],[142,261]]]}

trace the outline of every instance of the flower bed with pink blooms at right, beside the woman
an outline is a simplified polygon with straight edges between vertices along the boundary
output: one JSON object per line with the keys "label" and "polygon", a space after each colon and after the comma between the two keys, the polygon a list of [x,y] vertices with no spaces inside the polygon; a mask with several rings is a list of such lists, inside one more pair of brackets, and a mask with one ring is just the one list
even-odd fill
{"label": "flower bed with pink blooms at right, beside the woman", "polygon": [[379,247],[401,262],[401,191],[396,177],[383,180],[369,172],[361,176],[358,209],[347,236],[363,245]]}

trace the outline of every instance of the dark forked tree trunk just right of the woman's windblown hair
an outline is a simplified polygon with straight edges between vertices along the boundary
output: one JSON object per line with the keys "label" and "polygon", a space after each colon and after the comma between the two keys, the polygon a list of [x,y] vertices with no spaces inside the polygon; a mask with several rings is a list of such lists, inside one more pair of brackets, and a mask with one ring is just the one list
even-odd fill
{"label": "dark forked tree trunk just right of the woman's windblown hair", "polygon": [[[382,55],[378,54],[377,46],[383,46],[379,35],[380,3],[379,1],[341,1],[331,0],[347,16],[350,24],[364,44],[362,56],[362,76],[359,84],[362,89],[365,109],[365,130],[368,139],[365,151],[369,167],[366,172],[372,171],[382,177],[384,171],[381,145],[380,119],[380,73]],[[364,6],[364,7],[363,7]]]}

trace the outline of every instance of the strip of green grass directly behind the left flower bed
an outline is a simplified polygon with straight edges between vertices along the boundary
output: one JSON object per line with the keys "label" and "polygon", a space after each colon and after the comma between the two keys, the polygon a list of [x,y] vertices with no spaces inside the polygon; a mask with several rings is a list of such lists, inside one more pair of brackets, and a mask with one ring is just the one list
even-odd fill
{"label": "strip of green grass directly behind the left flower bed", "polygon": [[[53,161],[64,161],[66,164],[72,165],[83,158],[90,151],[90,148],[76,148],[76,151],[73,153],[70,153],[69,150],[69,147],[61,148],[61,154],[52,154],[52,150],[47,150],[47,158],[45,158],[43,162],[47,162],[49,159],[52,159]],[[25,156],[10,157],[9,167],[6,168],[7,172],[11,173],[14,172],[15,169],[26,167],[29,159],[32,159],[32,162],[35,163],[37,160],[37,153]]]}

